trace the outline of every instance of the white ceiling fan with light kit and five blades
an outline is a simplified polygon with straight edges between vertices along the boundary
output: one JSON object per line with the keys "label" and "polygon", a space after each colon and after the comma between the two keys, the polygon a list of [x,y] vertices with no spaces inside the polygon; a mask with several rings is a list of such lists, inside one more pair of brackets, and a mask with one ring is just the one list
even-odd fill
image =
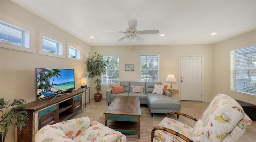
{"label": "white ceiling fan with light kit and five blades", "polygon": [[108,31],[108,30],[105,30],[105,31],[128,34],[128,35],[125,35],[124,37],[121,37],[120,39],[118,39],[118,41],[122,41],[125,39],[126,41],[130,41],[130,42],[134,42],[136,40],[139,42],[143,42],[144,39],[142,39],[142,37],[140,37],[139,35],[159,33],[159,30],[137,31],[137,29],[136,29],[137,20],[135,20],[135,19],[130,19],[130,21],[128,21],[128,25],[129,25],[129,27],[126,29],[126,32],[124,32],[124,31]]}

